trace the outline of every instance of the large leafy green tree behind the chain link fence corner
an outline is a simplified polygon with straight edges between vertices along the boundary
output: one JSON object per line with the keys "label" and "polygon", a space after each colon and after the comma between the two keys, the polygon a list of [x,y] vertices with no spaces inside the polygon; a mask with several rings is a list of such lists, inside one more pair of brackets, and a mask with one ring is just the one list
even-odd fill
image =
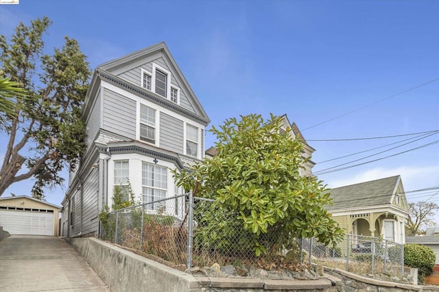
{"label": "large leafy green tree behind the chain link fence corner", "polygon": [[210,130],[217,137],[213,159],[174,172],[178,185],[197,185],[196,196],[215,199],[199,218],[204,241],[226,250],[251,246],[259,256],[291,246],[294,237],[327,245],[342,239],[343,230],[324,209],[329,192],[315,177],[299,174],[307,162],[302,142],[280,130],[275,116],[230,118]]}

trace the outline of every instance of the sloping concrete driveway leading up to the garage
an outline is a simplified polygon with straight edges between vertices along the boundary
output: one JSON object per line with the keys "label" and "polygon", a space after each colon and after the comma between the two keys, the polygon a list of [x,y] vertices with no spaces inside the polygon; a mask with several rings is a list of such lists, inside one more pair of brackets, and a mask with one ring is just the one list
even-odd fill
{"label": "sloping concrete driveway leading up to the garage", "polygon": [[0,291],[110,291],[58,237],[12,235],[0,241]]}

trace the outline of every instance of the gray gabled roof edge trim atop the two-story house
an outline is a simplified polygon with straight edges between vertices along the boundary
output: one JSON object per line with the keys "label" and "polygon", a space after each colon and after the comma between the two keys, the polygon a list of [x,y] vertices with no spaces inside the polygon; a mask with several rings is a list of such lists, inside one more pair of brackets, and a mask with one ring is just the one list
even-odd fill
{"label": "gray gabled roof edge trim atop the two-story house", "polygon": [[118,68],[126,66],[126,64],[128,64],[128,63],[137,62],[141,59],[144,59],[148,55],[152,55],[152,54],[158,53],[158,52],[163,53],[163,55],[165,55],[167,57],[167,59],[169,60],[169,63],[170,63],[169,65],[171,66],[171,69],[174,70],[174,72],[176,72],[179,75],[180,80],[182,81],[182,85],[186,88],[187,93],[192,96],[192,101],[193,101],[193,103],[195,103],[195,106],[200,111],[201,116],[209,120],[209,117],[207,116],[206,111],[204,111],[204,108],[202,107],[200,101],[198,101],[198,98],[195,96],[195,93],[193,92],[191,86],[187,82],[185,75],[183,75],[183,73],[181,72],[177,63],[175,62],[174,57],[172,57],[171,52],[167,48],[167,45],[165,44],[165,42],[159,42],[158,44],[154,44],[154,45],[147,47],[145,49],[141,49],[139,51],[135,51],[134,53],[130,53],[128,55],[125,55],[123,57],[113,59],[109,62],[106,62],[104,64],[97,66],[97,69],[98,70],[101,69],[104,72],[105,71],[106,72],[113,72],[113,71],[117,70]]}

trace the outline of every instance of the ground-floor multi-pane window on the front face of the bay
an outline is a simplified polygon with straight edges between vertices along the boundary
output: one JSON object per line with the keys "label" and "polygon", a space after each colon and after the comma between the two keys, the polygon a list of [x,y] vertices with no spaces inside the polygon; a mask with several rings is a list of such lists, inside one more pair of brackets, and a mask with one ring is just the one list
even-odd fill
{"label": "ground-floor multi-pane window on the front face of the bay", "polygon": [[[143,203],[149,210],[163,210],[165,205],[156,200],[166,198],[167,193],[167,168],[152,164],[142,163],[142,194]],[[164,211],[164,210],[163,210]]]}

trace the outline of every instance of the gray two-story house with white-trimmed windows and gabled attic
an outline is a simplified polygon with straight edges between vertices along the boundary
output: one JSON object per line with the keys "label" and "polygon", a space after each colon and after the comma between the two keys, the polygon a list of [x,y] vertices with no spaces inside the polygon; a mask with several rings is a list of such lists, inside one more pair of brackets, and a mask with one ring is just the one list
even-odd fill
{"label": "gray two-story house with white-trimmed windows and gabled attic", "polygon": [[87,148],[62,200],[63,236],[96,235],[115,185],[137,202],[182,194],[171,170],[204,157],[209,117],[164,42],[97,66],[82,116]]}

